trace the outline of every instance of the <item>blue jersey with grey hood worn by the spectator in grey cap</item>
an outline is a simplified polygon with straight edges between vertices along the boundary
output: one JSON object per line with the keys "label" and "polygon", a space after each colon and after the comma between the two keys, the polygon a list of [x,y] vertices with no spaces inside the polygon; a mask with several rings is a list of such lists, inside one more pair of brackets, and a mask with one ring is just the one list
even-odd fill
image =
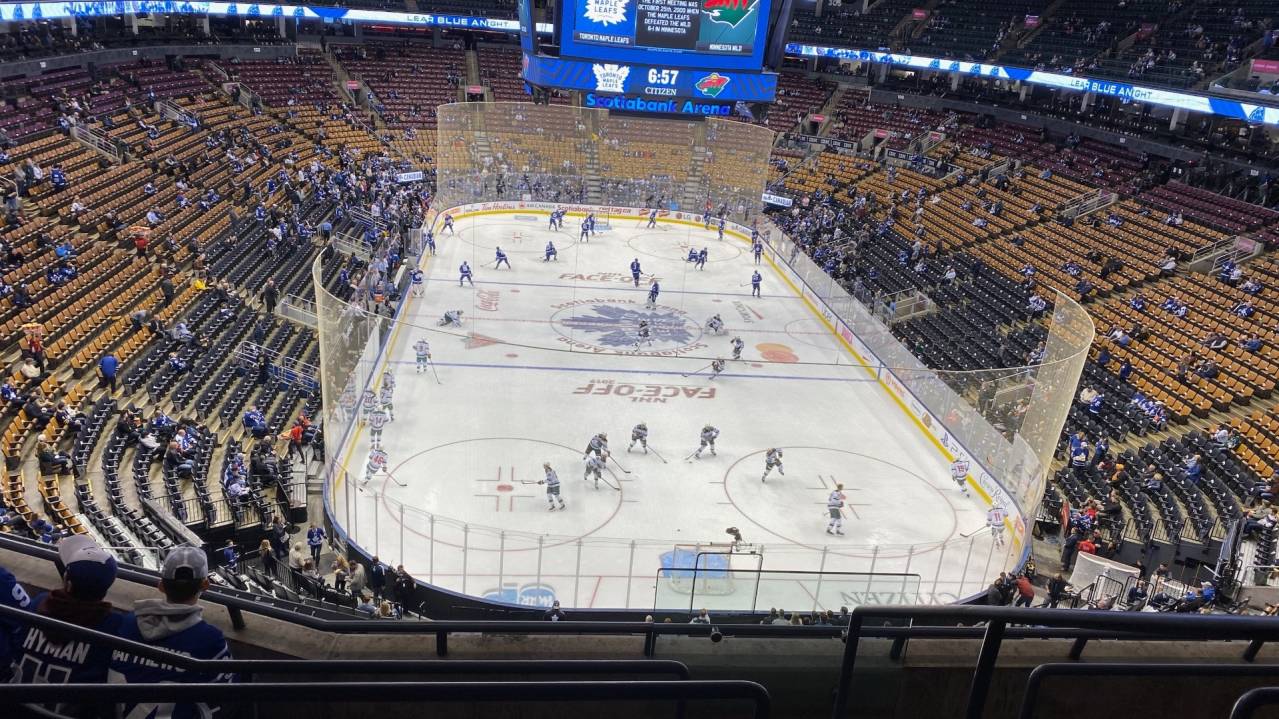
{"label": "blue jersey with grey hood worn by the spectator in grey cap", "polygon": [[[203,609],[193,604],[173,604],[164,599],[143,599],[133,605],[120,627],[119,636],[159,649],[185,654],[193,659],[230,659],[230,650],[221,629],[205,622]],[[177,667],[116,651],[111,656],[113,683],[208,683],[234,682],[234,674],[184,672]],[[124,715],[133,706],[125,705]],[[215,714],[205,702],[178,702],[171,719],[200,719]]]}

